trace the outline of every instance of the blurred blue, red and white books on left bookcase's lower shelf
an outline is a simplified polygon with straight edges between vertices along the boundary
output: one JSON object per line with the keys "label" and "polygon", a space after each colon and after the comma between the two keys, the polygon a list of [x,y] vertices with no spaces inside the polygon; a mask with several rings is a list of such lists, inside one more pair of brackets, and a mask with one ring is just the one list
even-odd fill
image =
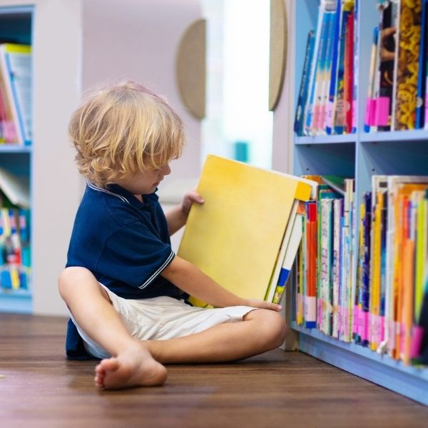
{"label": "blurred blue, red and white books on left bookcase's lower shelf", "polygon": [[31,273],[29,210],[0,209],[0,289],[28,290]]}

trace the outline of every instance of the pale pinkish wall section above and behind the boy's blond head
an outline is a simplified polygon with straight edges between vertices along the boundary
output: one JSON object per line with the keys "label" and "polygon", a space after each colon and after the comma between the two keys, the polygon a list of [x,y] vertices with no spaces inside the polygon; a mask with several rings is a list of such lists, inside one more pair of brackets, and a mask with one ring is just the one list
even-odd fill
{"label": "pale pinkish wall section above and behind the boy's blond head", "polygon": [[183,107],[175,83],[175,54],[198,0],[86,0],[83,3],[83,88],[108,78],[132,78],[168,98],[188,136],[171,180],[200,173],[200,121]]}

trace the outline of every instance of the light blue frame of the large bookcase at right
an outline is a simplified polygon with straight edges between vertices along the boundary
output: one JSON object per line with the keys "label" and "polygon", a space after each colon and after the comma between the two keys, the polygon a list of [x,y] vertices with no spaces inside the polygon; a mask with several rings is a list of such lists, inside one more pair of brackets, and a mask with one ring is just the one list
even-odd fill
{"label": "light blue frame of the large bookcase at right", "polygon": [[[294,4],[294,87],[295,106],[305,60],[307,32],[317,27],[319,1],[295,0]],[[427,175],[428,132],[392,131],[365,133],[365,100],[369,83],[370,48],[373,28],[379,24],[376,0],[360,0],[357,27],[357,130],[333,136],[294,137],[293,160],[296,175],[342,175],[355,177],[355,207],[362,193],[370,190],[372,175]],[[358,209],[354,212],[359,225]],[[357,241],[357,240],[356,240]],[[355,242],[357,254],[357,242]],[[353,270],[356,272],[356,268]],[[354,278],[355,280],[355,278]],[[299,349],[428,405],[428,370],[408,367],[355,343],[340,342],[315,329],[295,322],[295,283],[292,285],[292,328],[299,337]]]}

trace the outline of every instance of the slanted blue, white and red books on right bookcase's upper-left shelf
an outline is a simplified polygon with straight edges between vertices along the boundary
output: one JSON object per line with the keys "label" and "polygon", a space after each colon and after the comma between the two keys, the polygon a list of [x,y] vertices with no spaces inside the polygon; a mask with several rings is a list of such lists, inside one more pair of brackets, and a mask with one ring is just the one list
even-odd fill
{"label": "slanted blue, white and red books on right bookcase's upper-left shelf", "polygon": [[294,131],[297,136],[356,129],[358,0],[321,0],[307,36]]}

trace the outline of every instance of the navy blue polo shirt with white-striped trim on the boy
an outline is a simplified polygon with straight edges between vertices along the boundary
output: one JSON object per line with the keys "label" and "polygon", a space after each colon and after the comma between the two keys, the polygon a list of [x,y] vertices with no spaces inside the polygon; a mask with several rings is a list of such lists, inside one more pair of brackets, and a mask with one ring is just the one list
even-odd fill
{"label": "navy blue polo shirt with white-striped trim on the boy", "polygon": [[[141,202],[119,185],[86,185],[71,233],[67,267],[86,267],[126,299],[180,298],[183,292],[161,276],[174,256],[156,193],[143,195]],[[71,321],[66,351],[68,357],[85,353]]]}

